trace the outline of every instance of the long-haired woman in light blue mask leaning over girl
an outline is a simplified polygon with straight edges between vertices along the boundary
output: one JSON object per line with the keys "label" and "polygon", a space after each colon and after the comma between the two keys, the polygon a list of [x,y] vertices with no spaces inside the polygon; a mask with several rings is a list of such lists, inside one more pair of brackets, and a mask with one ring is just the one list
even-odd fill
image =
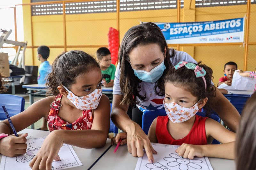
{"label": "long-haired woman in light blue mask leaning over girl", "polygon": [[[164,94],[159,91],[159,86],[164,83],[166,70],[180,61],[196,63],[185,52],[169,50],[163,33],[154,23],[133,26],[124,35],[118,53],[111,119],[119,129],[127,132],[128,151],[135,157],[142,157],[144,148],[149,162],[154,162],[152,153],[157,152],[136,123],[141,118],[136,120],[133,117],[142,117],[141,111],[163,108]],[[212,100],[212,109],[230,129],[236,130],[240,120],[236,108],[218,89]],[[129,105],[137,106],[132,113],[136,122],[126,114]]]}

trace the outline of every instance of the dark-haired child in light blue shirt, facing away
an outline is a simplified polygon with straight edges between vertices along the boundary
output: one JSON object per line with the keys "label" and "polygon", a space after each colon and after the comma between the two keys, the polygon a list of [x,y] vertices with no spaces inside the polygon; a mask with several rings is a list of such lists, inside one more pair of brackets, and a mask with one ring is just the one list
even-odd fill
{"label": "dark-haired child in light blue shirt, facing away", "polygon": [[47,46],[40,46],[37,48],[37,58],[41,61],[41,64],[38,68],[37,83],[39,85],[45,85],[47,75],[52,71],[52,66],[47,61],[47,58],[50,55],[50,48]]}

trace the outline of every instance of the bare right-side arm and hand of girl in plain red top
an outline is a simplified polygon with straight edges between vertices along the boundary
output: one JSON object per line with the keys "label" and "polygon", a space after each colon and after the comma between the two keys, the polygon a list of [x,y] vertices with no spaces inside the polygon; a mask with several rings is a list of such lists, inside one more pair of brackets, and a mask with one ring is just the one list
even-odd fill
{"label": "bare right-side arm and hand of girl in plain red top", "polygon": [[182,144],[176,152],[188,159],[193,159],[195,156],[235,159],[235,133],[210,118],[205,121],[205,131],[207,138],[211,136],[222,144]]}

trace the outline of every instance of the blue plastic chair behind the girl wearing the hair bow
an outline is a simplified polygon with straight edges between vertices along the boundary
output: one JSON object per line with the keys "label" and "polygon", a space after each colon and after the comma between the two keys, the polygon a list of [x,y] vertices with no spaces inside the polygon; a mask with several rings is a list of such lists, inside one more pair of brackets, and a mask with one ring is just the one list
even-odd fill
{"label": "blue plastic chair behind the girl wearing the hair bow", "polygon": [[[203,112],[197,112],[197,115],[206,117],[205,113]],[[153,120],[157,117],[157,116],[166,116],[166,112],[164,109],[160,109],[160,110],[147,110],[143,113],[142,115],[142,130],[146,133],[146,135],[148,135],[148,130],[149,127],[151,125],[151,123],[153,122]],[[220,123],[220,117],[217,115],[210,115],[210,118],[212,118],[213,120],[217,121]],[[218,142],[217,140],[213,140],[212,144],[220,144],[220,142]]]}

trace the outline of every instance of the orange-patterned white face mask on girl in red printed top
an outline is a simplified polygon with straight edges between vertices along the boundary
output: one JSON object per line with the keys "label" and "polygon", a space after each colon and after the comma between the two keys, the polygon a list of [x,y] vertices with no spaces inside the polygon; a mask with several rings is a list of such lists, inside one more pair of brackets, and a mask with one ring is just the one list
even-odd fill
{"label": "orange-patterned white face mask on girl in red printed top", "polygon": [[67,87],[63,86],[68,91],[68,100],[73,103],[76,108],[80,110],[96,109],[99,105],[100,98],[102,96],[102,88],[95,89],[92,93],[78,97],[74,93],[68,90]]}

